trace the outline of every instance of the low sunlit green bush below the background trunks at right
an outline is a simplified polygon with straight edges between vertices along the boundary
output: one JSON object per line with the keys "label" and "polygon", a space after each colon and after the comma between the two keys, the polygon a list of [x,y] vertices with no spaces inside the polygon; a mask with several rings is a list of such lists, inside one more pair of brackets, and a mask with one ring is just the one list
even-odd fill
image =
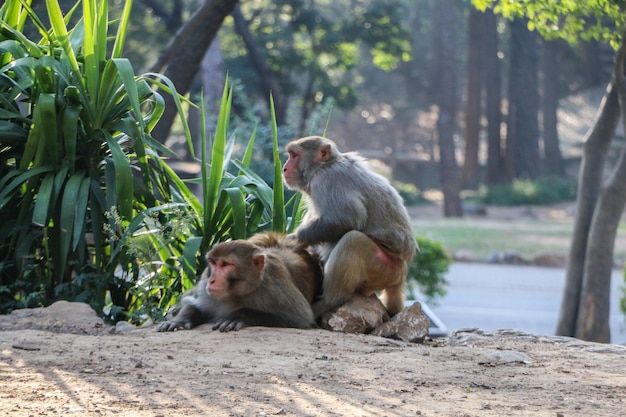
{"label": "low sunlit green bush below the background trunks at right", "polygon": [[485,204],[515,206],[554,204],[576,198],[576,183],[561,177],[543,177],[534,181],[514,180],[482,190],[478,200]]}

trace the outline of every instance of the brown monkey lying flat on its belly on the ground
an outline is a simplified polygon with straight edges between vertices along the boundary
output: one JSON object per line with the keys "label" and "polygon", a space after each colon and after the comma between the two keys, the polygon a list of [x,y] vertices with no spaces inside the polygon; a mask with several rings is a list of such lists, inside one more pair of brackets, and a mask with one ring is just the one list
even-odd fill
{"label": "brown monkey lying flat on its belly on the ground", "polygon": [[309,328],[311,302],[321,287],[319,259],[293,239],[259,234],[214,246],[196,287],[157,331],[213,323],[220,331],[244,326]]}

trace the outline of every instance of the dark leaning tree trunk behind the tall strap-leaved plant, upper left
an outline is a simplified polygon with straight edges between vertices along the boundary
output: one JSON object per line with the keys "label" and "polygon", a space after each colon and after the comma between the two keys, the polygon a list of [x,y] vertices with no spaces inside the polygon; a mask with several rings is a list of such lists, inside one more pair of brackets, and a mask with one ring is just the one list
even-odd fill
{"label": "dark leaning tree trunk behind the tall strap-leaved plant, upper left", "polygon": [[[202,57],[237,2],[238,0],[207,0],[176,33],[172,42],[159,56],[152,71],[158,72],[166,67],[165,76],[174,83],[177,92],[179,94],[189,92]],[[152,130],[152,136],[161,142],[167,139],[178,114],[174,99],[169,94],[165,94],[163,98],[165,111]]]}

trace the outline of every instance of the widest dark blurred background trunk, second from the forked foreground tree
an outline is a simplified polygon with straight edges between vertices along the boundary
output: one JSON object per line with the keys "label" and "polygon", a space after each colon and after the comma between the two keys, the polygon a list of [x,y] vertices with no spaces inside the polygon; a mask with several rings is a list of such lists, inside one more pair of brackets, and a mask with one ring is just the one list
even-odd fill
{"label": "widest dark blurred background trunk, second from the forked foreground tree", "polygon": [[537,34],[528,30],[526,19],[511,22],[511,68],[509,75],[509,120],[507,155],[516,178],[541,175],[539,152],[539,93]]}

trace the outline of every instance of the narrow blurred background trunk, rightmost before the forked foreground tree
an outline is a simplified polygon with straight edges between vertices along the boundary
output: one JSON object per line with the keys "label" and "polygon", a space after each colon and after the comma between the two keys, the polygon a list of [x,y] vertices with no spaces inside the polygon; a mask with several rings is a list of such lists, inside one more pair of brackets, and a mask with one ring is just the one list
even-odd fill
{"label": "narrow blurred background trunk, rightmost before the forked foreground tree", "polygon": [[542,78],[542,110],[543,110],[543,149],[544,149],[544,171],[548,175],[563,176],[565,169],[563,157],[559,148],[559,134],[557,130],[556,111],[559,104],[557,73],[557,52],[556,41],[542,41],[541,73]]}

